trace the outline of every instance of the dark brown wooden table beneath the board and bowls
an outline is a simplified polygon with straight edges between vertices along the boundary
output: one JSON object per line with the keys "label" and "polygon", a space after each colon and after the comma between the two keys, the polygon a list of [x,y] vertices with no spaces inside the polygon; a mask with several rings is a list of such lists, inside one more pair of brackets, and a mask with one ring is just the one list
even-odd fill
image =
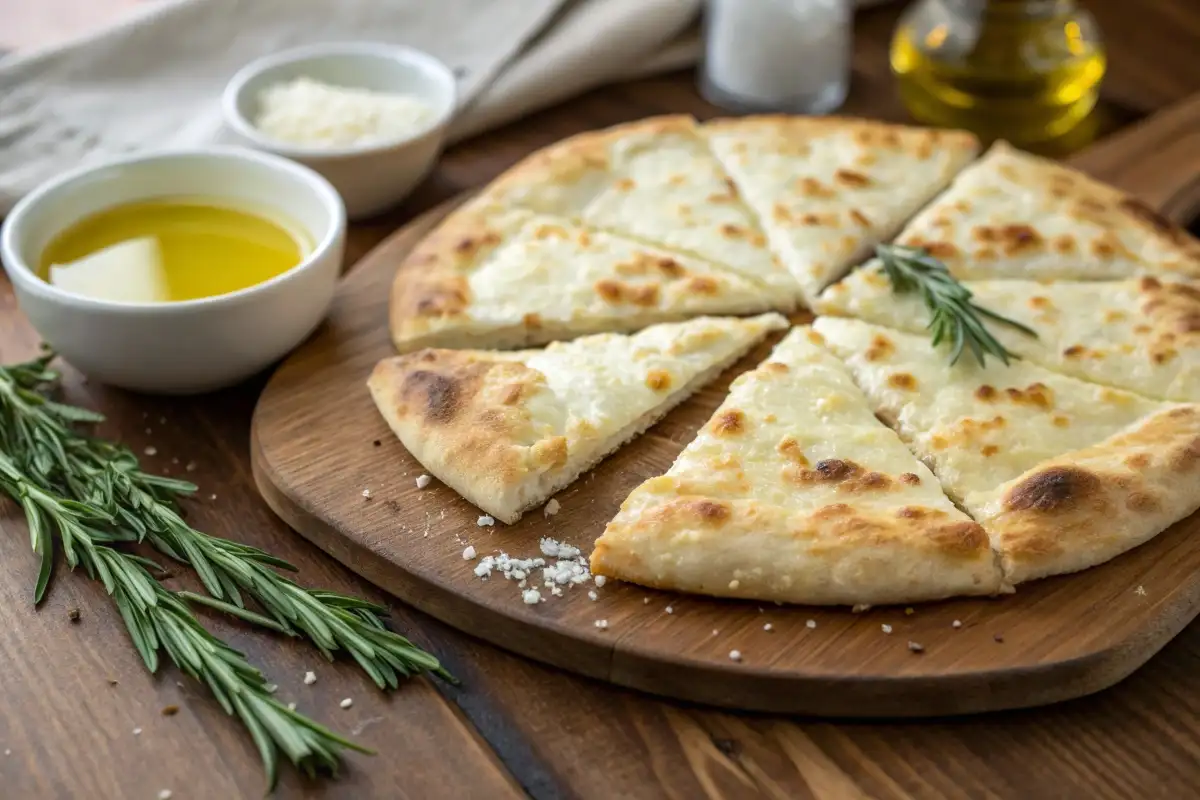
{"label": "dark brown wooden table beneath the board and bowls", "polygon": [[[126,0],[106,0],[124,5]],[[0,0],[0,46],[22,14],[71,0]],[[84,4],[103,5],[100,0]],[[1200,91],[1200,4],[1093,0],[1111,41],[1104,130],[1124,127]],[[886,42],[898,11],[859,18],[847,113],[904,119],[887,77]],[[26,30],[36,30],[26,28]],[[414,213],[482,184],[533,148],[578,130],[661,112],[710,115],[689,74],[594,92],[469,142],[406,206],[359,225],[350,258]],[[29,355],[36,336],[0,283],[0,357]],[[289,531],[258,498],[247,432],[262,379],[193,399],[136,397],[68,374],[71,401],[102,409],[103,433],[154,467],[190,477],[200,529],[265,547],[300,567],[308,585],[388,602]],[[176,461],[178,459],[178,461]],[[211,495],[216,499],[209,499]],[[12,798],[259,796],[258,757],[204,690],[166,669],[148,675],[101,588],[60,571],[35,612],[36,560],[24,522],[0,515],[0,795]],[[173,583],[184,585],[176,579]],[[1200,789],[1200,625],[1148,666],[1099,696],[968,720],[836,723],[749,716],[661,702],[541,667],[391,603],[397,626],[462,678],[462,688],[415,680],[391,697],[347,663],[247,632],[216,616],[212,630],[263,666],[286,699],[377,748],[352,757],[338,782],[286,771],[278,796],[344,798],[1184,798]],[[83,619],[71,624],[67,609]],[[1104,609],[1096,609],[1103,614]],[[306,669],[319,680],[305,686]],[[110,685],[108,679],[116,679]],[[352,709],[338,702],[354,698]],[[178,704],[175,716],[161,709]],[[133,729],[140,728],[140,735]]]}

